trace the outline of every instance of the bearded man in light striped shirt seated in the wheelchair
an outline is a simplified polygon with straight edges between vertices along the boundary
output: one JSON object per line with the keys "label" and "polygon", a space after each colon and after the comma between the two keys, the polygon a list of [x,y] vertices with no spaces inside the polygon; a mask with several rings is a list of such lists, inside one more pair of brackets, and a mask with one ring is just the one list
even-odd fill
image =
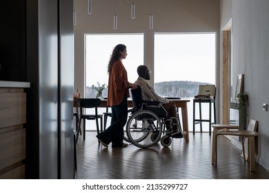
{"label": "bearded man in light striped shirt seated in the wheelchair", "polygon": [[[150,70],[146,65],[139,65],[137,68],[138,79],[135,81],[135,84],[141,88],[142,99],[144,101],[159,101],[163,108],[168,112],[168,116],[177,118],[177,109],[174,102],[169,101],[166,98],[159,96],[154,88],[146,80],[150,80]],[[172,123],[176,123],[175,119],[172,119]],[[166,125],[167,130],[169,130],[168,125]],[[176,135],[177,134],[177,135]],[[172,128],[172,136],[182,136],[186,132],[179,131],[179,125],[175,124]]]}

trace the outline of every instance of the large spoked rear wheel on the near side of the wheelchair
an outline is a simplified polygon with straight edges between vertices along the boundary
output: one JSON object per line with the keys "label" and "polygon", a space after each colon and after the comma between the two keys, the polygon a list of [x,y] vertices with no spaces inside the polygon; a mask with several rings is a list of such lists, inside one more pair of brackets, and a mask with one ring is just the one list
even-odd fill
{"label": "large spoked rear wheel on the near side of the wheelchair", "polygon": [[162,124],[159,117],[148,110],[135,112],[126,124],[128,139],[139,148],[150,148],[158,143],[161,139],[161,130]]}

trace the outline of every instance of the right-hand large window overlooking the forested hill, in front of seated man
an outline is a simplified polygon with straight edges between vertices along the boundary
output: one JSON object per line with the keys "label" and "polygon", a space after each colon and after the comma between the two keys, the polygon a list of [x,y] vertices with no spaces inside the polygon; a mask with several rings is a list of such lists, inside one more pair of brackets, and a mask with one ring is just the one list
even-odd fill
{"label": "right-hand large window overlooking the forested hill, in front of seated man", "polygon": [[[192,130],[192,99],[200,84],[215,84],[216,34],[155,34],[155,91],[161,96],[190,99],[188,125]],[[208,116],[208,107],[203,108]],[[198,111],[196,111],[198,112]],[[205,116],[205,119],[208,117]],[[203,125],[203,131],[208,126]]]}

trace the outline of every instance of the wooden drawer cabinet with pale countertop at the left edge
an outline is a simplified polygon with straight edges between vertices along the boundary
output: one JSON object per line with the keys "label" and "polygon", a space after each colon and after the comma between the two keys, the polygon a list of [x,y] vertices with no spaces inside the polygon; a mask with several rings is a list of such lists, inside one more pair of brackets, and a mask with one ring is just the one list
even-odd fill
{"label": "wooden drawer cabinet with pale countertop at the left edge", "polygon": [[30,83],[0,81],[0,179],[24,179],[26,92]]}

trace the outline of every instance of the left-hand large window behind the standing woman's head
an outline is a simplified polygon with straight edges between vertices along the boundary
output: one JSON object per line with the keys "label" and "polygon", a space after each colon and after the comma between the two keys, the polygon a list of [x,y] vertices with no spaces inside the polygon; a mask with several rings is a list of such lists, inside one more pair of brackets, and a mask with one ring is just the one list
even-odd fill
{"label": "left-hand large window behind the standing woman's head", "polygon": [[[86,34],[86,97],[95,97],[91,85],[108,84],[108,61],[114,46],[123,43],[128,56],[123,65],[128,72],[128,81],[137,80],[137,66],[143,64],[143,34]],[[104,91],[106,96],[107,91]]]}

